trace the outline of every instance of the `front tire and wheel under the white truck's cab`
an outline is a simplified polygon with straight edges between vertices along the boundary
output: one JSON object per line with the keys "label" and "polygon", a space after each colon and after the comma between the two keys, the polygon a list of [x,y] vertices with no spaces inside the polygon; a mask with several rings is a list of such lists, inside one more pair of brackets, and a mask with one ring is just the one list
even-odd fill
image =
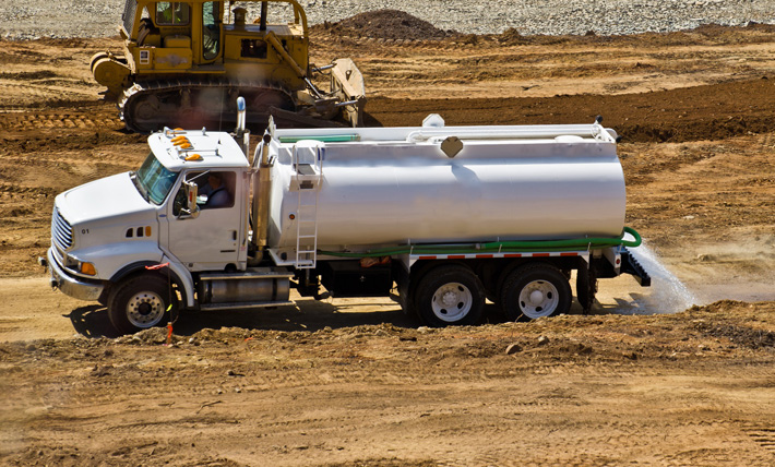
{"label": "front tire and wheel under the white truck's cab", "polygon": [[112,289],[108,299],[108,315],[116,331],[132,334],[166,324],[170,311],[177,311],[177,307],[178,297],[167,278],[144,275],[130,278]]}

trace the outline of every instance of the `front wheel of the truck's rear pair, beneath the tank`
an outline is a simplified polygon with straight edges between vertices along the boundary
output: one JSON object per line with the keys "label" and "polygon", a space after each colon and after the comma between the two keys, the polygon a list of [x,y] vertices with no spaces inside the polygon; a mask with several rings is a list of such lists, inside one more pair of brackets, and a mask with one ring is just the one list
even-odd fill
{"label": "front wheel of the truck's rear pair, beneath the tank", "polygon": [[415,309],[429,326],[476,324],[485,309],[485,289],[465,266],[436,267],[417,285]]}

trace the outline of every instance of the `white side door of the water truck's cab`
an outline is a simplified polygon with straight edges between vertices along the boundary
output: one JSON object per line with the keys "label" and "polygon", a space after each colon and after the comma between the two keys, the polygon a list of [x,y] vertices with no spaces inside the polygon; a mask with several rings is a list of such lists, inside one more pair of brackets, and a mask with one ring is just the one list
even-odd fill
{"label": "white side door of the water truck's cab", "polygon": [[[235,196],[239,180],[235,171],[219,170],[219,173],[230,196],[227,205],[210,207],[202,204],[195,217],[181,214],[186,193],[178,181],[176,195],[167,206],[167,248],[192,272],[220,271],[228,264],[238,264],[240,213],[243,209],[241,197]],[[198,184],[203,184],[206,178],[202,172],[188,172],[183,177],[194,179]]]}

